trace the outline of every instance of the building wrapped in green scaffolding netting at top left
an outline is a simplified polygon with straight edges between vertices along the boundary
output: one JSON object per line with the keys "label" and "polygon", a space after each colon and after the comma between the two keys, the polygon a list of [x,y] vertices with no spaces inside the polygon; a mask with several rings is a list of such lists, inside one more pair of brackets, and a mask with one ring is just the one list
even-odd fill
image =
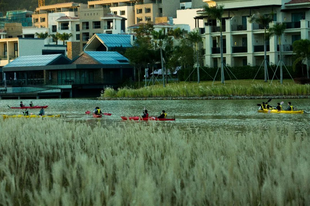
{"label": "building wrapped in green scaffolding netting at top left", "polygon": [[31,27],[32,14],[32,11],[27,10],[7,11],[5,16],[0,16],[0,27],[4,27],[6,23],[21,23],[23,27]]}

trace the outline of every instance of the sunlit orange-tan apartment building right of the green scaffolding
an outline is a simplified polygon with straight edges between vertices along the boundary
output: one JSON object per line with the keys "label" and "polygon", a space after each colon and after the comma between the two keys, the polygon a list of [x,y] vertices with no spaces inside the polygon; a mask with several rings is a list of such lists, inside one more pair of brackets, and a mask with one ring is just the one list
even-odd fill
{"label": "sunlit orange-tan apartment building right of the green scaffolding", "polygon": [[75,13],[74,16],[78,16],[78,8],[80,6],[87,7],[87,5],[75,2],[59,3],[38,7],[32,15],[33,26],[37,28],[48,28],[48,14],[50,13],[71,11]]}

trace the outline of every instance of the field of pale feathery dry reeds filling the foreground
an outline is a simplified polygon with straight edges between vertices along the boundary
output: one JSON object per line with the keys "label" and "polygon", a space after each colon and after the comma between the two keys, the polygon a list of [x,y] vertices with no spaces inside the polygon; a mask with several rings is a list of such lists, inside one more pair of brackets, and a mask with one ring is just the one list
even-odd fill
{"label": "field of pale feathery dry reeds filling the foreground", "polygon": [[308,136],[0,120],[0,205],[310,205]]}

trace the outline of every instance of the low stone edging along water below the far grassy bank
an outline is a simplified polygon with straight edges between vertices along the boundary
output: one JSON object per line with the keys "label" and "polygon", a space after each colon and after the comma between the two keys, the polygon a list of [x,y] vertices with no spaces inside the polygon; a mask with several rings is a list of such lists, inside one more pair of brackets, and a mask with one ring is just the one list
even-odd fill
{"label": "low stone edging along water below the far grassy bank", "polygon": [[207,97],[97,97],[98,100],[219,100],[219,99],[310,99],[310,95],[207,96]]}

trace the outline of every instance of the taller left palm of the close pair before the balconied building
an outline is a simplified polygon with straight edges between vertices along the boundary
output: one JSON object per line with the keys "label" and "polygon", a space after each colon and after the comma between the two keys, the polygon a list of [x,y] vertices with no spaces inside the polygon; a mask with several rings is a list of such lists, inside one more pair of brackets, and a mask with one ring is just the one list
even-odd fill
{"label": "taller left palm of the close pair before the balconied building", "polygon": [[264,68],[265,68],[265,82],[267,82],[267,40],[269,40],[269,35],[266,33],[269,23],[273,21],[273,14],[261,15],[257,13],[257,17],[254,15],[250,17],[249,22],[255,22],[264,28]]}

